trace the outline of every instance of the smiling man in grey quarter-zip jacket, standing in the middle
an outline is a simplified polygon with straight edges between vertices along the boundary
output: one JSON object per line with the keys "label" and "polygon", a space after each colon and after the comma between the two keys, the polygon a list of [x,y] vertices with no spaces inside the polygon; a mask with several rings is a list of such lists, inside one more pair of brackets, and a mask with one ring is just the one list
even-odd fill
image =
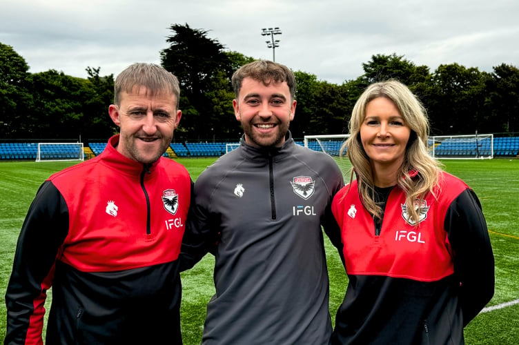
{"label": "smiling man in grey quarter-zip jacket, standing in the middle", "polygon": [[329,155],[295,144],[295,77],[254,61],[233,75],[244,135],[195,182],[193,234],[181,262],[215,254],[215,295],[202,344],[329,344],[329,278],[321,226],[337,248],[331,201],[344,186]]}

